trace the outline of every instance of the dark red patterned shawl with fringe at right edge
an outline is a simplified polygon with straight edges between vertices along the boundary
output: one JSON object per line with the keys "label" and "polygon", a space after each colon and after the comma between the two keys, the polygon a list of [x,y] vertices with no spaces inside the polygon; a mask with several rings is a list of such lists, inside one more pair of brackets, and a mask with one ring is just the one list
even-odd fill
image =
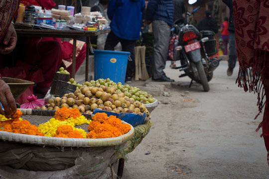
{"label": "dark red patterned shawl with fringe at right edge", "polygon": [[[233,7],[240,65],[236,82],[245,91],[257,92],[259,114],[264,108],[263,101],[266,97],[263,122],[257,131],[263,126],[262,136],[269,152],[269,0],[233,0]],[[267,159],[269,162],[269,155]]]}

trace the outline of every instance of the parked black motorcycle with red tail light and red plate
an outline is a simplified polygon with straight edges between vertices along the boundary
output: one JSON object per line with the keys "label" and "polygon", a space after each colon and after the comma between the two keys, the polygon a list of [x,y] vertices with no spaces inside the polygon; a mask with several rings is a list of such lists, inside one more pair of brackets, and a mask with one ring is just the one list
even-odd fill
{"label": "parked black motorcycle with red tail light and red plate", "polygon": [[184,71],[179,77],[188,76],[193,81],[200,83],[204,91],[209,91],[208,82],[213,78],[213,71],[219,66],[219,61],[214,56],[218,50],[215,34],[212,31],[199,31],[189,24],[188,17],[194,14],[200,7],[186,13],[184,20],[174,21],[171,35],[174,40],[174,60],[180,60],[181,66],[174,69]]}

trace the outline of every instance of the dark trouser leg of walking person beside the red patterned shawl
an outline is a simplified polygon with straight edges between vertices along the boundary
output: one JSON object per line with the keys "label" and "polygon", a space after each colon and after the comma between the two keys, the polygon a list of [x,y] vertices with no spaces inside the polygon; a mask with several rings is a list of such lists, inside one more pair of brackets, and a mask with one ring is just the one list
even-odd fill
{"label": "dark trouser leg of walking person beside the red patterned shawl", "polygon": [[236,66],[236,44],[235,44],[235,32],[229,31],[229,60],[228,67],[234,69]]}

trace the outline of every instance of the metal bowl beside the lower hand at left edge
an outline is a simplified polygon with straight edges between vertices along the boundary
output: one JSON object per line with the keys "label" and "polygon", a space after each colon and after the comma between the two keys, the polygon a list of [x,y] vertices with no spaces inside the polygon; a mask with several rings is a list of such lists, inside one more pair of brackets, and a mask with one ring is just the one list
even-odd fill
{"label": "metal bowl beside the lower hand at left edge", "polygon": [[31,85],[33,85],[33,82],[27,81],[27,80],[20,80],[20,79],[14,79],[14,78],[7,78],[3,77],[3,81],[9,86],[11,93],[13,94],[13,97],[15,100],[18,99],[18,97]]}

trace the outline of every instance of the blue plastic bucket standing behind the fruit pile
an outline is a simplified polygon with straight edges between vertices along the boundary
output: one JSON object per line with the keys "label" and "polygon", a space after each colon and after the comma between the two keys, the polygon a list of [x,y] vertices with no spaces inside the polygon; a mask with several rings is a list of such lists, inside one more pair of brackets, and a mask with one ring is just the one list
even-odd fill
{"label": "blue plastic bucket standing behind the fruit pile", "polygon": [[130,52],[94,50],[94,80],[109,78],[115,83],[125,83]]}

